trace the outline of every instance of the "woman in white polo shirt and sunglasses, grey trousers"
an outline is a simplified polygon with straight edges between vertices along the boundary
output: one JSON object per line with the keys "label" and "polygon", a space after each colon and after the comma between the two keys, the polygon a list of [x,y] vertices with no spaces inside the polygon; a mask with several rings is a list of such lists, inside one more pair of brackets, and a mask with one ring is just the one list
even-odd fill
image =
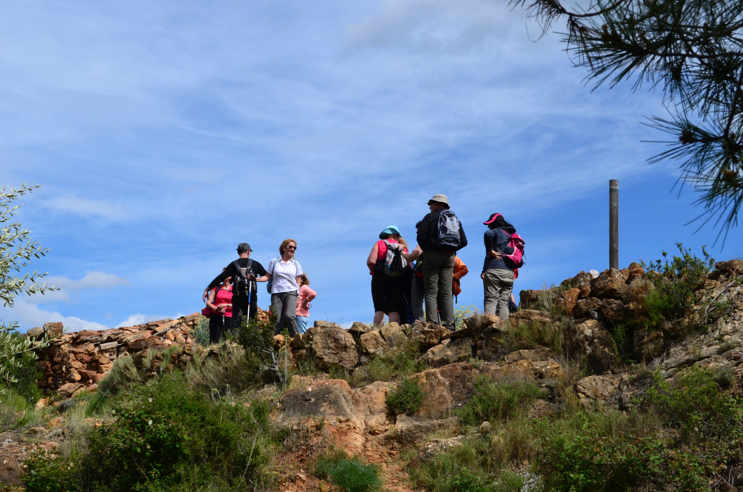
{"label": "woman in white polo shirt and sunglasses, grey trousers", "polygon": [[286,326],[289,336],[293,337],[296,332],[296,297],[299,291],[299,276],[302,275],[302,267],[294,259],[296,241],[284,239],[279,246],[280,258],[274,258],[266,268],[267,273],[258,282],[271,282],[271,311],[279,314],[274,334],[279,334]]}

